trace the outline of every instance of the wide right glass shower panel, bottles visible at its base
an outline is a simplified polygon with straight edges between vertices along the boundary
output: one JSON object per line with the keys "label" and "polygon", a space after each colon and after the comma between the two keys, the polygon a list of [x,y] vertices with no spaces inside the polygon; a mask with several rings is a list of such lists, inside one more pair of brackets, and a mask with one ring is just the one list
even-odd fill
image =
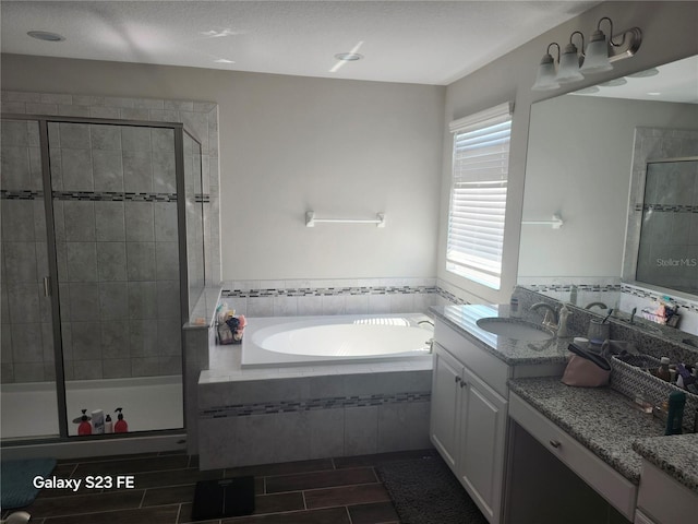
{"label": "wide right glass shower panel, bottles visible at its base", "polygon": [[48,126],[69,434],[182,428],[176,131]]}

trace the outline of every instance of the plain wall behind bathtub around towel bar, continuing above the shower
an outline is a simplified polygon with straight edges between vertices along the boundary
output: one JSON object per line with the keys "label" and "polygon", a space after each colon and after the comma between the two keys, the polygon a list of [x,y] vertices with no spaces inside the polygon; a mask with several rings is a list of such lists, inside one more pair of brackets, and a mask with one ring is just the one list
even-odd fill
{"label": "plain wall behind bathtub around towel bar, continuing above the shower", "polygon": [[436,273],[442,86],[3,55],[2,88],[217,103],[225,281]]}

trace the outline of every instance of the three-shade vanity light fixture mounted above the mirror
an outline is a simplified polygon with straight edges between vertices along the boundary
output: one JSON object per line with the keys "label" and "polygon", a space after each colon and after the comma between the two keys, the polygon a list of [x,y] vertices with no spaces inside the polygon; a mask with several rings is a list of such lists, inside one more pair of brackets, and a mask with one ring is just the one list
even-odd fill
{"label": "three-shade vanity light fixture mounted above the mirror", "polygon": [[[603,21],[607,21],[611,25],[609,33],[611,38],[606,38],[603,31],[601,31],[601,23]],[[573,43],[576,34],[581,36],[581,52],[578,51],[577,46]],[[610,71],[613,69],[611,62],[634,56],[642,43],[642,32],[638,27],[624,31],[616,37],[616,40],[618,37],[621,40],[615,41],[613,36],[613,21],[604,16],[597,24],[597,31],[592,33],[591,40],[586,48],[585,36],[579,31],[575,31],[569,36],[569,44],[565,46],[562,55],[559,55],[559,46],[556,43],[552,43],[547,46],[547,53],[543,56],[539,64],[532,90],[556,90],[559,87],[559,84],[577,82],[582,80],[586,74]],[[558,49],[557,62],[559,69],[557,74],[555,74],[555,61],[550,55],[550,48],[553,45],[557,46]]]}

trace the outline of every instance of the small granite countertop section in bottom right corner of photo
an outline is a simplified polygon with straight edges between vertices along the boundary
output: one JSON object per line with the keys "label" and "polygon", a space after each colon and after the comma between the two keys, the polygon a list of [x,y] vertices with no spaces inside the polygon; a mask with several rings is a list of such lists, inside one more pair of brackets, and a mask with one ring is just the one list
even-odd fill
{"label": "small granite countertop section in bottom right corner of photo", "polygon": [[698,492],[698,433],[640,439],[633,449],[677,481]]}

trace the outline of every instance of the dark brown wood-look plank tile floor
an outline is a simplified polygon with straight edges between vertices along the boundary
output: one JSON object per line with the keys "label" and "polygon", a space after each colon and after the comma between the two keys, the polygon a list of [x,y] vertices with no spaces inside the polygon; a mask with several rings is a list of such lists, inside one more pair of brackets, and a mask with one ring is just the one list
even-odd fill
{"label": "dark brown wood-look plank tile floor", "polygon": [[59,461],[53,472],[59,478],[133,475],[135,487],[83,486],[74,493],[45,488],[25,511],[32,524],[184,524],[191,522],[197,480],[253,475],[255,513],[206,524],[397,524],[375,467],[435,454],[420,450],[207,472],[198,471],[196,456],[183,453]]}

